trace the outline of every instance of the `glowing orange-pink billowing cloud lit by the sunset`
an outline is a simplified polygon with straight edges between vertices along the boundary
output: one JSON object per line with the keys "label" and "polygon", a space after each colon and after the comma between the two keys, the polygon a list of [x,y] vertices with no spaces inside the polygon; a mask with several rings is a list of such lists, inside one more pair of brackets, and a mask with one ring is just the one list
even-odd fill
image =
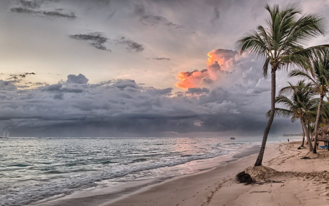
{"label": "glowing orange-pink billowing cloud lit by the sunset", "polygon": [[235,55],[236,51],[232,50],[212,50],[208,53],[207,69],[202,71],[194,70],[193,72],[179,72],[176,76],[178,82],[175,86],[182,89],[209,86],[209,84],[217,80],[220,72],[228,70],[225,64],[234,58]]}

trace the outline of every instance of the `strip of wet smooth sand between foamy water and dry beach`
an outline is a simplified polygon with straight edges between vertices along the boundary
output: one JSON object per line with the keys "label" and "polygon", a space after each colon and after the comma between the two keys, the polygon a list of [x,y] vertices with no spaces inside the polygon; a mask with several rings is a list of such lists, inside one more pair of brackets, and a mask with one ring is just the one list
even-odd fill
{"label": "strip of wet smooth sand between foamy water and dry beach", "polygon": [[[275,143],[268,143],[268,144],[275,144]],[[234,154],[232,157],[216,157],[216,158],[210,158],[205,159],[208,160],[207,164],[211,164],[210,167],[204,167],[204,168],[198,168],[195,172],[191,173],[186,173],[186,174],[181,174],[181,175],[175,175],[175,176],[165,176],[165,177],[157,177],[157,178],[150,178],[150,179],[145,179],[145,180],[139,180],[136,181],[137,185],[131,186],[131,187],[126,187],[123,188],[122,190],[119,191],[114,191],[114,192],[101,192],[99,189],[95,189],[92,191],[94,194],[88,193],[88,189],[82,190],[82,191],[76,191],[72,194],[66,195],[64,197],[56,198],[53,200],[47,200],[44,202],[36,203],[33,205],[38,205],[38,206],[46,206],[46,205],[104,205],[107,204],[108,202],[116,201],[117,199],[120,199],[122,196],[125,195],[130,195],[133,194],[134,192],[138,192],[140,190],[143,190],[144,188],[152,187],[154,185],[159,185],[161,183],[171,181],[172,179],[175,178],[181,178],[187,175],[195,175],[198,173],[203,173],[203,172],[208,172],[211,171],[217,167],[222,167],[225,166],[229,163],[239,161],[245,157],[249,157],[253,154],[256,154],[259,152],[260,145],[247,145],[245,147],[242,147],[239,149],[238,153]],[[216,159],[224,159],[224,160],[216,160]],[[212,160],[213,159],[213,160]],[[227,160],[225,160],[227,159]],[[130,183],[131,184],[131,183]],[[77,194],[77,193],[82,193],[82,194]]]}

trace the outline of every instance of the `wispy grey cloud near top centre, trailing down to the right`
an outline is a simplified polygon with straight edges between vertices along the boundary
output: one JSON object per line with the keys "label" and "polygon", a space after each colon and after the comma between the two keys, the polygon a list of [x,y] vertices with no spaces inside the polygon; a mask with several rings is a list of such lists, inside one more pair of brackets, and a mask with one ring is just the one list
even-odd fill
{"label": "wispy grey cloud near top centre, trailing down to the right", "polygon": [[142,24],[146,26],[153,26],[156,24],[163,24],[174,28],[182,28],[182,25],[175,24],[169,21],[167,18],[160,15],[153,15],[148,13],[143,4],[136,4],[134,7],[133,14],[139,17],[139,20]]}

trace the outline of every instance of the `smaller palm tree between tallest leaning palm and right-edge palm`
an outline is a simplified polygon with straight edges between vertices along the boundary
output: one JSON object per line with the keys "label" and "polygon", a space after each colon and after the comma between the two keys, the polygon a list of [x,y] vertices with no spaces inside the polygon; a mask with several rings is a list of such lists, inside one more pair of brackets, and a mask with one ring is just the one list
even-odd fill
{"label": "smaller palm tree between tallest leaning palm and right-edge palm", "polygon": [[[284,87],[280,90],[279,96],[275,98],[275,103],[281,103],[286,109],[275,108],[275,115],[277,117],[291,117],[291,121],[294,122],[299,119],[303,126],[303,131],[306,134],[308,142],[311,142],[310,131],[306,125],[306,120],[310,115],[316,114],[316,108],[318,101],[315,99],[315,93],[310,89],[311,83],[305,83],[304,80],[298,81],[296,85]],[[291,97],[287,97],[283,94],[291,94]],[[270,110],[266,113],[268,117]],[[312,144],[310,144],[310,151],[313,150]]]}

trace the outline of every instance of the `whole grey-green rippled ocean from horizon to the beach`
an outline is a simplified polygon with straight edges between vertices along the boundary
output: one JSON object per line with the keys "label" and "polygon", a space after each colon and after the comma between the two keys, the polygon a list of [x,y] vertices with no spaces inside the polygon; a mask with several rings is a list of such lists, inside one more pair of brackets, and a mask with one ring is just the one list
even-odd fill
{"label": "whole grey-green rippled ocean from horizon to the beach", "polygon": [[[288,137],[268,137],[268,142]],[[289,137],[290,140],[301,137]],[[0,205],[31,205],[81,191],[120,192],[242,156],[262,137],[10,137],[0,139]],[[255,152],[254,152],[255,153]],[[215,164],[214,164],[215,162]]]}

